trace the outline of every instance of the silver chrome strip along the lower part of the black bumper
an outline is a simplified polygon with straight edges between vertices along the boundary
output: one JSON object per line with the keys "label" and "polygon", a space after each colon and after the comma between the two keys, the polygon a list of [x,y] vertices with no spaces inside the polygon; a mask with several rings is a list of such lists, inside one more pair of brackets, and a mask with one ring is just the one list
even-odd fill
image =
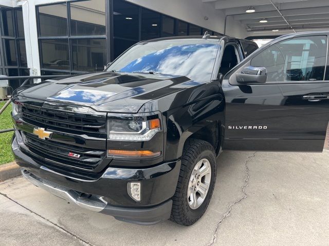
{"label": "silver chrome strip along the lower part of the black bumper", "polygon": [[57,183],[41,179],[31,174],[30,172],[24,171],[22,169],[23,176],[29,180],[33,185],[46,190],[47,192],[63,198],[69,202],[77,204],[79,207],[88,209],[94,212],[101,212],[107,205],[107,202],[102,199],[100,196],[92,195],[88,198],[81,198],[81,193],[60,186]]}

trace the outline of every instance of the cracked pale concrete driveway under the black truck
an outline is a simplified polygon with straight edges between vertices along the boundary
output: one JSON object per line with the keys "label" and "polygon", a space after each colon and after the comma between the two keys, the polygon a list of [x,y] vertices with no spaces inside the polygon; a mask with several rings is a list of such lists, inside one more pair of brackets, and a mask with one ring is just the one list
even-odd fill
{"label": "cracked pale concrete driveway under the black truck", "polygon": [[329,151],[224,152],[197,223],[138,226],[83,210],[22,177],[0,183],[1,245],[329,245]]}

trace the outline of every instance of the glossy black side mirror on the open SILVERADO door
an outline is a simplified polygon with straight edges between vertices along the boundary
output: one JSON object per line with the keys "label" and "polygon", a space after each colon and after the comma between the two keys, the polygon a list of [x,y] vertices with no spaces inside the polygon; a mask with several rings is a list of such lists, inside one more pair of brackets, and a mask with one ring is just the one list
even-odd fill
{"label": "glossy black side mirror on the open SILVERADO door", "polygon": [[267,79],[267,70],[263,67],[245,67],[235,76],[237,83],[240,84],[264,84]]}

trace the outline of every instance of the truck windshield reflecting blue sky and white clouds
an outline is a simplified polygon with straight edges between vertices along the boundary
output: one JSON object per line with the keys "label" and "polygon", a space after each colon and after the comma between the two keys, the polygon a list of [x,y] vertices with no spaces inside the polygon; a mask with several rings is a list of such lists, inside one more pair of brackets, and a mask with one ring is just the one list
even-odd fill
{"label": "truck windshield reflecting blue sky and white clouds", "polygon": [[206,40],[142,43],[120,56],[107,71],[170,74],[209,81],[219,47]]}

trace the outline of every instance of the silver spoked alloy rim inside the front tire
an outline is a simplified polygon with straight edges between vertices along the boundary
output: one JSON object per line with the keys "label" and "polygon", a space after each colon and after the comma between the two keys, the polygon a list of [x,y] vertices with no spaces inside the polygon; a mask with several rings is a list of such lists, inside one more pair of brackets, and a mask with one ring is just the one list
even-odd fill
{"label": "silver spoked alloy rim inside the front tire", "polygon": [[190,177],[187,200],[191,209],[197,209],[206,199],[211,179],[211,166],[207,159],[199,160]]}

